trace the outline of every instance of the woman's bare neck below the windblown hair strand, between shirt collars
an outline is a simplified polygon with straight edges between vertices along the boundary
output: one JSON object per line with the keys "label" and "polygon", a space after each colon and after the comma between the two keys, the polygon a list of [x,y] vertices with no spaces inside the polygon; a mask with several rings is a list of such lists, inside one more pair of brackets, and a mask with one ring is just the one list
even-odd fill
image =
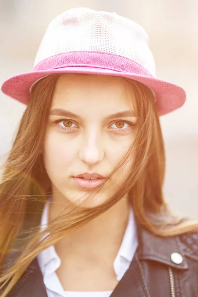
{"label": "woman's bare neck below the windblown hair strand, between shirt collars", "polygon": [[[55,204],[50,204],[49,219],[53,218]],[[129,206],[128,196],[125,196],[107,211],[58,242],[55,249],[61,262],[68,258],[86,258],[96,263],[106,262],[108,259],[112,263],[123,240]]]}

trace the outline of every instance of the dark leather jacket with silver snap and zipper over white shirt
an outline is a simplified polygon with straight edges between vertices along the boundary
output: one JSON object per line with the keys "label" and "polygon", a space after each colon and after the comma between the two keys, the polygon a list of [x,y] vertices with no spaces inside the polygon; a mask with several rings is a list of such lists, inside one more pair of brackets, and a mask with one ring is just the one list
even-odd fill
{"label": "dark leather jacket with silver snap and zipper over white shirt", "polygon": [[[198,297],[198,234],[162,238],[138,228],[139,246],[111,297]],[[47,297],[35,258],[8,297]]]}

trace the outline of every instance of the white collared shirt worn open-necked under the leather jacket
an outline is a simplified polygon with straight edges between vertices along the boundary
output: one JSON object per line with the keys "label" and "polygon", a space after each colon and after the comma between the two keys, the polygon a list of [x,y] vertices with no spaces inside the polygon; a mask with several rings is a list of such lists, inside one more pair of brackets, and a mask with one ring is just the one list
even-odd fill
{"label": "white collared shirt worn open-necked under the leather jacket", "polygon": [[[49,199],[50,200],[50,199]],[[49,201],[48,200],[48,201]],[[45,229],[48,224],[48,210],[49,203],[46,203],[42,219],[41,229]],[[130,206],[129,220],[125,230],[125,234],[122,240],[122,244],[115,257],[113,268],[117,277],[120,281],[134,257],[136,248],[138,246],[136,223],[133,213],[133,208]],[[44,278],[44,284],[48,297],[109,297],[112,291],[101,291],[101,292],[70,292],[64,291],[58,276],[56,269],[61,264],[61,260],[57,255],[54,246],[50,246],[40,252],[37,256],[38,263],[41,268],[41,272]],[[68,272],[69,273],[69,272]]]}

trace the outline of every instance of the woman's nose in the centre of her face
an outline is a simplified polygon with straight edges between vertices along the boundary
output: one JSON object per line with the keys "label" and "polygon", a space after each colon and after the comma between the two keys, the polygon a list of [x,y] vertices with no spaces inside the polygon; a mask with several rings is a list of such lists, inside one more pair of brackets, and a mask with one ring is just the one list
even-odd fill
{"label": "woman's nose in the centre of her face", "polygon": [[99,133],[96,131],[89,132],[84,136],[79,149],[79,158],[88,165],[99,163],[104,157],[102,141]]}

